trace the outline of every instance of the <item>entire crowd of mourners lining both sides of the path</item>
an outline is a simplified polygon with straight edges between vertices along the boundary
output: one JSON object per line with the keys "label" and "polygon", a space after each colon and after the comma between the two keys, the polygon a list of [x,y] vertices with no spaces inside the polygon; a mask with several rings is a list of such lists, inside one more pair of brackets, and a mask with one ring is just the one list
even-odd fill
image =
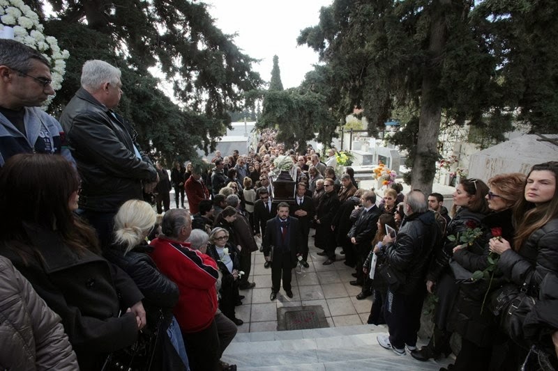
{"label": "entire crowd of mourners lining both sides of the path", "polygon": [[[334,148],[297,153],[270,129],[247,154],[176,161],[169,177],[113,111],[114,66],[87,61],[59,120],[37,108],[54,93],[38,52],[0,40],[0,75],[0,368],[236,370],[220,358],[255,287],[251,253],[271,267],[270,299],[281,283],[292,297],[312,231],[322,264],[342,259],[356,299],[372,296],[382,347],[427,361],[453,352],[457,333],[448,370],[556,367],[557,161],[462,179],[450,212],[441,194],[361,189]],[[273,187],[285,163],[288,204]],[[434,330],[418,349],[428,293]]]}

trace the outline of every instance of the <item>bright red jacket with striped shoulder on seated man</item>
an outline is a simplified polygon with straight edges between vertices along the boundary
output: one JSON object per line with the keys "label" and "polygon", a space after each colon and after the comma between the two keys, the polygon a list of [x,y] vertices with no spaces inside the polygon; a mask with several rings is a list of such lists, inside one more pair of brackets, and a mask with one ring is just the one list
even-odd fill
{"label": "bright red jacket with striped shoulder on seated man", "polygon": [[174,317],[186,333],[195,333],[209,327],[217,311],[218,278],[215,260],[190,248],[188,242],[165,237],[153,239],[151,258],[161,271],[180,290]]}

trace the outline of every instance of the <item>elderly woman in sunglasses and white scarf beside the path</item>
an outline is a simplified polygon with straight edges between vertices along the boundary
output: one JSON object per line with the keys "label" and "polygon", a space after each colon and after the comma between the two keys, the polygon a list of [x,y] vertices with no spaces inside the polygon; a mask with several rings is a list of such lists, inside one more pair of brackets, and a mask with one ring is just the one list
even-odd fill
{"label": "elderly woman in sunglasses and white scarf beside the path", "polygon": [[209,234],[207,255],[217,262],[219,271],[223,274],[221,289],[219,290],[219,309],[228,319],[240,326],[244,322],[242,319],[236,318],[234,313],[236,304],[241,304],[238,271],[240,251],[228,241],[229,232],[225,228],[213,228]]}

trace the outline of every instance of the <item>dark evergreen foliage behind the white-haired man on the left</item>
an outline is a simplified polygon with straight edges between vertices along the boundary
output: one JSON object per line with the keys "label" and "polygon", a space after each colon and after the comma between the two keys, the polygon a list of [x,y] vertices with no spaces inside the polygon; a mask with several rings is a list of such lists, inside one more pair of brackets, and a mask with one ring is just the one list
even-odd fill
{"label": "dark evergreen foliage behind the white-haired man on the left", "polygon": [[[56,17],[44,19],[50,35],[70,52],[66,79],[52,113],[60,113],[79,88],[84,61],[103,59],[123,72],[125,94],[119,110],[130,119],[142,145],[167,161],[208,150],[230,123],[230,111],[252,102],[244,92],[262,81],[252,71],[255,59],[241,53],[232,35],[218,29],[197,1],[50,0]],[[158,66],[174,95],[157,86]]]}

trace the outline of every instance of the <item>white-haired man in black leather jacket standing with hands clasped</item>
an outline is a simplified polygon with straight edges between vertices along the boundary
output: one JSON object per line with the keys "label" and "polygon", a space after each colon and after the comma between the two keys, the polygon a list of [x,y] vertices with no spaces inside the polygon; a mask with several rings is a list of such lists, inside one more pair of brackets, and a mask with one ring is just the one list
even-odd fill
{"label": "white-haired man in black leather jacket standing with hands clasped", "polygon": [[120,70],[107,62],[86,61],[82,87],[60,118],[82,179],[80,210],[103,247],[110,242],[120,205],[141,200],[142,186],[150,184],[152,189],[158,180],[156,168],[135,141],[134,129],[112,111],[122,95],[120,77]]}

